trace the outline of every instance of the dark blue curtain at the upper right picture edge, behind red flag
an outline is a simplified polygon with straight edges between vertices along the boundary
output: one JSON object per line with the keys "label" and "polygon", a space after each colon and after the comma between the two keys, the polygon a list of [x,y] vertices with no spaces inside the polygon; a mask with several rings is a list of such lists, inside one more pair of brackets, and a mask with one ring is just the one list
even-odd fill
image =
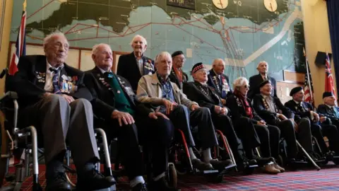
{"label": "dark blue curtain at the upper right picture edge, behind red flag", "polygon": [[335,79],[337,79],[337,95],[339,95],[339,0],[327,0],[328,25],[330,27],[331,44]]}

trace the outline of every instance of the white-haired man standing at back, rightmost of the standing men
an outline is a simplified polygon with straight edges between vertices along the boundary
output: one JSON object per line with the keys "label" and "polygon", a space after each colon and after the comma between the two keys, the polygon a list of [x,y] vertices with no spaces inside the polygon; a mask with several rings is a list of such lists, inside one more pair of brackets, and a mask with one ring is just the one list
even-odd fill
{"label": "white-haired man standing at back, rightmost of the standing men", "polygon": [[270,96],[277,98],[277,82],[273,77],[268,76],[268,63],[266,61],[259,62],[258,66],[256,66],[256,69],[258,70],[259,74],[251,76],[249,78],[249,93],[248,98],[252,100],[252,98],[260,93],[259,85],[261,82],[269,80],[273,90],[270,94]]}

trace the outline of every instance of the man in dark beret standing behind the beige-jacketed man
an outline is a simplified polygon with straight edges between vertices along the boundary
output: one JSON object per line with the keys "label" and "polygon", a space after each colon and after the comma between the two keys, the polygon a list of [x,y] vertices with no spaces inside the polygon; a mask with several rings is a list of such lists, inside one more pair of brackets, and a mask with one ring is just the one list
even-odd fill
{"label": "man in dark beret standing behind the beige-jacketed man", "polygon": [[182,71],[182,67],[184,66],[185,61],[186,59],[184,52],[180,50],[173,52],[173,67],[171,70],[171,74],[169,74],[169,80],[173,83],[176,83],[180,89],[182,89],[182,84],[189,80],[189,76],[187,76],[187,74]]}

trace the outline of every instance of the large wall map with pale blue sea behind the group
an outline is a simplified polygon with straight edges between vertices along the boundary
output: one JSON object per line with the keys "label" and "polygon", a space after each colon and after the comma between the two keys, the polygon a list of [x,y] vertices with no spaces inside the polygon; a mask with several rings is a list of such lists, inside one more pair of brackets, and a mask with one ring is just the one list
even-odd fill
{"label": "large wall map with pale blue sea behind the group", "polygon": [[[167,6],[167,0],[28,0],[26,41],[41,44],[44,35],[61,30],[74,47],[105,42],[114,51],[131,52],[129,42],[140,34],[148,40],[148,57],[185,52],[185,71],[197,62],[222,58],[231,80],[256,74],[261,60],[278,80],[283,69],[304,72],[300,0],[276,0],[274,12],[265,8],[264,0],[224,1],[227,8],[219,9],[212,0],[196,0],[191,10]],[[23,0],[13,4],[15,41]]]}

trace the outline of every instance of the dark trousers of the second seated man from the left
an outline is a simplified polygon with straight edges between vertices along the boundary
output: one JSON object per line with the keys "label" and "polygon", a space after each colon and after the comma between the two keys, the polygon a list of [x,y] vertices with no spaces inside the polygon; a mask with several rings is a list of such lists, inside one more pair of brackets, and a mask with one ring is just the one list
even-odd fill
{"label": "dark trousers of the second seated man from the left", "polygon": [[[136,120],[136,119],[135,119]],[[124,123],[123,123],[124,124]],[[121,163],[124,165],[129,180],[143,175],[143,158],[138,143],[136,124],[119,126],[118,120],[107,120],[102,127],[107,134],[107,141],[117,137],[117,148]]]}

